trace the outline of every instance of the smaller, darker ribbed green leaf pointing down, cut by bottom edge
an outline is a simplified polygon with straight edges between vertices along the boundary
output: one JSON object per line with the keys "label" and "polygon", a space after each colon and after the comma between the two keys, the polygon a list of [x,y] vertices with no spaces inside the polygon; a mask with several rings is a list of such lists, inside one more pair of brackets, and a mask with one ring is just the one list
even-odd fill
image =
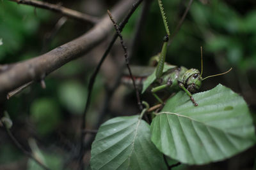
{"label": "smaller, darker ribbed green leaf pointing down, cut by bottom edge", "polygon": [[92,169],[166,169],[139,116],[117,117],[100,126],[92,144]]}

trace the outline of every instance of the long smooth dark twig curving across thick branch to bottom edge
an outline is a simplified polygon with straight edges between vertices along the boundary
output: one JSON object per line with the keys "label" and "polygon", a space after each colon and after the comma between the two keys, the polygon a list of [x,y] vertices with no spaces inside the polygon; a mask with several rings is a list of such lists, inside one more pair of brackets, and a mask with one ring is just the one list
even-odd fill
{"label": "long smooth dark twig curving across thick branch to bottom edge", "polygon": [[[124,28],[125,24],[127,24],[129,18],[131,17],[132,13],[134,13],[134,11],[138,8],[138,6],[140,5],[140,3],[142,1],[143,0],[138,0],[138,1],[136,1],[136,3],[134,3],[132,5],[131,10],[129,11],[127,16],[124,18],[124,20],[119,25],[120,31],[122,31],[122,29]],[[97,74],[99,73],[100,67],[102,66],[104,60],[108,56],[108,53],[110,52],[112,46],[114,45],[114,43],[116,41],[116,38],[118,38],[117,34],[115,34],[115,36],[113,36],[111,42],[108,45],[108,48],[106,49],[106,52],[104,52],[104,54],[102,55],[102,58],[100,59],[99,64],[97,65],[95,71],[93,71],[93,74],[90,77],[90,81],[89,81],[89,85],[88,85],[88,96],[87,96],[86,106],[85,106],[84,113],[83,113],[81,130],[85,129],[85,127],[86,127],[85,118],[86,118],[86,113],[88,111],[88,108],[90,106],[90,100],[91,100],[92,89],[93,89],[93,84],[95,82],[95,78],[96,78]],[[86,135],[86,133],[82,133],[81,134],[81,139],[80,139],[81,147],[80,147],[80,152],[79,152],[79,157],[78,157],[79,158],[79,167],[80,167],[80,169],[83,169],[84,137],[85,137],[85,135]]]}

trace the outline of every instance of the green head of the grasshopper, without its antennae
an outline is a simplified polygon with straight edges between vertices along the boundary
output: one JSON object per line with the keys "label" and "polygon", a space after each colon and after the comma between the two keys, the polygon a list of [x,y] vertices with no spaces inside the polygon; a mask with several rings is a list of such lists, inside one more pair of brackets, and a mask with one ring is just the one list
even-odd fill
{"label": "green head of the grasshopper, without its antennae", "polygon": [[198,69],[189,69],[184,73],[183,76],[184,85],[187,87],[189,92],[197,92],[202,85],[202,77]]}

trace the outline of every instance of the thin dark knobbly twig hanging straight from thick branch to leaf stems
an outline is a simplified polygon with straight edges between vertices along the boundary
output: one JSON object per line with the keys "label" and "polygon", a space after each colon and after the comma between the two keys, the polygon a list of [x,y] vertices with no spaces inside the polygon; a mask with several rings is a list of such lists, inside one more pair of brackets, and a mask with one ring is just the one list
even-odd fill
{"label": "thin dark knobbly twig hanging straight from thick branch to leaf stems", "polygon": [[113,16],[111,15],[110,11],[108,10],[108,15],[109,15],[109,18],[111,19],[111,21],[113,22],[114,26],[115,26],[115,29],[116,29],[116,33],[118,34],[119,38],[120,38],[120,43],[122,45],[122,48],[124,49],[124,57],[125,57],[125,64],[127,66],[127,69],[129,71],[129,75],[132,79],[132,84],[133,84],[133,87],[135,89],[135,92],[136,92],[136,97],[137,97],[137,102],[138,102],[138,105],[139,105],[139,108],[140,108],[140,111],[143,109],[143,106],[141,104],[141,99],[140,99],[140,94],[139,94],[139,90],[138,90],[138,87],[136,86],[135,84],[135,80],[134,80],[134,76],[132,76],[132,71],[131,71],[131,67],[129,66],[129,60],[128,60],[128,55],[127,55],[127,47],[124,45],[124,39],[123,39],[123,36],[118,28],[118,25],[116,24]]}

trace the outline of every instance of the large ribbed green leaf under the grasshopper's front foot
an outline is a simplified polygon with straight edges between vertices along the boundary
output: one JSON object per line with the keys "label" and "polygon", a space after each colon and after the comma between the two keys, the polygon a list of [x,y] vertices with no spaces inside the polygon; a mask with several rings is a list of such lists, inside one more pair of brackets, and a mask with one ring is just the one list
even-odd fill
{"label": "large ribbed green leaf under the grasshopper's front foot", "polygon": [[255,144],[252,118],[243,97],[218,85],[170,98],[151,124],[152,141],[161,152],[186,164],[227,159]]}

